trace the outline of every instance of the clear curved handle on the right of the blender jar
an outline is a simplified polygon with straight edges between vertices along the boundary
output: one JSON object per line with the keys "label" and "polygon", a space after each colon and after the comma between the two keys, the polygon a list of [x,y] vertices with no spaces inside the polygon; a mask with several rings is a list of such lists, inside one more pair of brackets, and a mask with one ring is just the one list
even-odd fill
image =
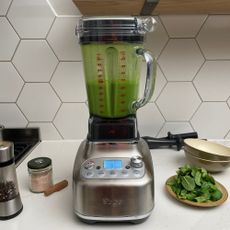
{"label": "clear curved handle on the right of the blender jar", "polygon": [[142,98],[133,102],[132,109],[134,111],[136,111],[137,109],[144,106],[150,101],[153,95],[154,86],[155,86],[155,77],[156,77],[156,62],[152,57],[151,53],[143,48],[137,49],[136,53],[137,55],[141,55],[144,58],[147,65],[147,73],[146,73],[146,80],[145,80],[144,95]]}

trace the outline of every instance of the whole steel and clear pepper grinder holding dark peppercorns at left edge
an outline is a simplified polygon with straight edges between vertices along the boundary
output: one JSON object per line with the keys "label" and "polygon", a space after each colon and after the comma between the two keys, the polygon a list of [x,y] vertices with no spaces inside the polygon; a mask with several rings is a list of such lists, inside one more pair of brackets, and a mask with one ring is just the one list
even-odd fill
{"label": "whole steel and clear pepper grinder holding dark peppercorns at left edge", "polygon": [[17,216],[22,208],[14,161],[14,144],[0,141],[0,220]]}

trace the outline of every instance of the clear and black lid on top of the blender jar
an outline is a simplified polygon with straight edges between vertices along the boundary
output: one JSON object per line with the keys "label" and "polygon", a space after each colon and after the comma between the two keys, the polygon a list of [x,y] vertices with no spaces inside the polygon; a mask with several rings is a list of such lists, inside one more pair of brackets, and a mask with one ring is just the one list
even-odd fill
{"label": "clear and black lid on top of the blender jar", "polygon": [[152,32],[155,25],[153,17],[82,17],[76,34],[80,43],[107,39],[143,42],[144,34]]}

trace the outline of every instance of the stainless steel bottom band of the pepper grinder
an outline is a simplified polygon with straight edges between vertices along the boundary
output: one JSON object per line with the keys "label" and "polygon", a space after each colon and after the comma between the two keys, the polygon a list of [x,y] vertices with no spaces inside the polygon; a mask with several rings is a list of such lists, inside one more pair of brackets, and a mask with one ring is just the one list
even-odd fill
{"label": "stainless steel bottom band of the pepper grinder", "polygon": [[19,214],[19,212],[22,210],[22,207],[23,206],[19,194],[12,200],[0,202],[0,219],[8,219],[15,214]]}

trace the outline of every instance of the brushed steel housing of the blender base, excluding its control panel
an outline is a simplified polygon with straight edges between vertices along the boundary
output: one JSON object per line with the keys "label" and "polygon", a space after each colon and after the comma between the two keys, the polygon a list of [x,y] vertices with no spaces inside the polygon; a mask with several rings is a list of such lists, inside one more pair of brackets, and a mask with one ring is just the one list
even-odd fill
{"label": "brushed steel housing of the blender base, excluding its control panel", "polygon": [[[87,179],[80,170],[92,158],[130,158],[139,156],[145,164],[141,178]],[[151,153],[142,139],[137,143],[94,143],[83,141],[73,171],[73,205],[79,217],[91,220],[133,220],[150,215],[154,207],[154,174]]]}

